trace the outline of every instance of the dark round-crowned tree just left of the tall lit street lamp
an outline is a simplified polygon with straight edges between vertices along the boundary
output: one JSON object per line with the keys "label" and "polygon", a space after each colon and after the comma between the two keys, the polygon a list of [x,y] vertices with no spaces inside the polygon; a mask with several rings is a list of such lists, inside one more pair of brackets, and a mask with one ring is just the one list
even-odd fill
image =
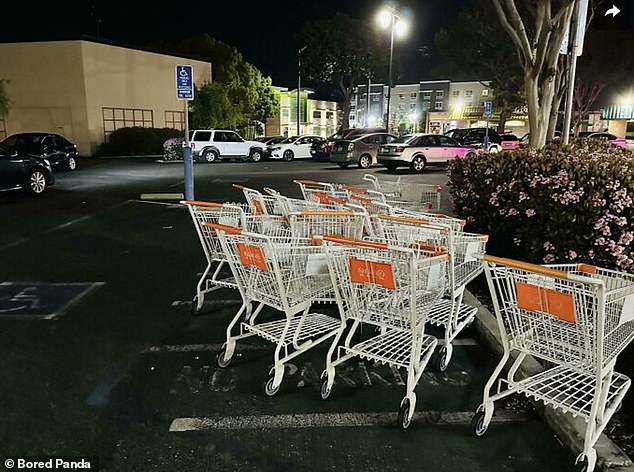
{"label": "dark round-crowned tree just left of the tall lit street lamp", "polygon": [[343,97],[342,126],[347,128],[355,85],[366,77],[383,76],[386,70],[381,35],[369,34],[366,22],[337,13],[307,23],[300,40],[306,45],[301,53],[302,75],[337,84]]}

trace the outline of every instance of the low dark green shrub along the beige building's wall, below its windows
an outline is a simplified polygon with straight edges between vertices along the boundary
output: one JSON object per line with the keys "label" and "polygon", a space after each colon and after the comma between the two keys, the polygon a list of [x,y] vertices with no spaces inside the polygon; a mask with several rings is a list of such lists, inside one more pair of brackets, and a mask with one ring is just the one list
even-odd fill
{"label": "low dark green shrub along the beige building's wall, below its windows", "polygon": [[163,155],[163,143],[169,138],[182,136],[183,132],[173,128],[143,128],[134,126],[119,128],[108,136],[96,154],[98,156],[143,156]]}

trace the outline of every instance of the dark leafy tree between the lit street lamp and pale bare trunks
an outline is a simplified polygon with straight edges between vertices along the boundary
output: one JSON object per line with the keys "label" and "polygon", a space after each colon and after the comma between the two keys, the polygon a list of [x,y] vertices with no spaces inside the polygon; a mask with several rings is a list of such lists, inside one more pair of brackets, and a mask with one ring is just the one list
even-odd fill
{"label": "dark leafy tree between the lit street lamp and pale bare trunks", "polygon": [[442,62],[436,73],[454,80],[486,80],[494,92],[494,106],[505,117],[525,103],[523,75],[516,51],[508,40],[490,1],[478,0],[463,8],[450,28],[436,33],[434,42]]}

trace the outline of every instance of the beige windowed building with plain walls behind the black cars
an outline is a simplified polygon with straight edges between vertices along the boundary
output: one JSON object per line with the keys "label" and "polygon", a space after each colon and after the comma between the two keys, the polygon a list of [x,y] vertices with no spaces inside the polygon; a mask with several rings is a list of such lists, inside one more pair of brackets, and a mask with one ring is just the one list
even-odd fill
{"label": "beige windowed building with plain walls behind the black cars", "polygon": [[59,132],[91,155],[124,123],[163,128],[165,112],[184,111],[176,98],[179,64],[193,66],[196,85],[211,82],[210,63],[177,56],[81,40],[0,44],[0,78],[9,81],[11,100],[7,134]]}

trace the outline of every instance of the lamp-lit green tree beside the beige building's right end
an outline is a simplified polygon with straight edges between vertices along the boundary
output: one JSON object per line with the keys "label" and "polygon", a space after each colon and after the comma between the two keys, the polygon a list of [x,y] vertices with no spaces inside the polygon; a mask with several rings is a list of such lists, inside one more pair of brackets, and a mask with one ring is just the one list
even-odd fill
{"label": "lamp-lit green tree beside the beige building's right end", "polygon": [[212,64],[212,84],[197,89],[191,104],[192,126],[196,123],[196,127],[222,127],[244,133],[254,121],[265,122],[279,109],[271,78],[244,61],[234,47],[208,34],[176,42],[159,41],[152,47]]}

